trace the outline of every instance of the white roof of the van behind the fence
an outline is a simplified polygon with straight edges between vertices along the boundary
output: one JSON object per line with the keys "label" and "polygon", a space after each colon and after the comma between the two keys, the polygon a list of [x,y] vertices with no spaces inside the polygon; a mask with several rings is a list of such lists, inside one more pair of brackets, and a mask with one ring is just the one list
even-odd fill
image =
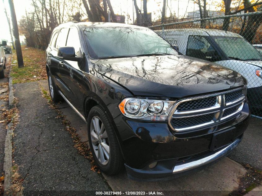
{"label": "white roof of the van behind the fence", "polygon": [[166,29],[168,32],[184,32],[186,31],[189,34],[192,35],[203,35],[203,33],[206,33],[207,35],[210,36],[226,36],[226,37],[242,37],[241,35],[237,33],[233,33],[230,31],[223,31],[223,30],[218,30],[218,29],[209,29],[209,28],[178,28],[178,29]]}

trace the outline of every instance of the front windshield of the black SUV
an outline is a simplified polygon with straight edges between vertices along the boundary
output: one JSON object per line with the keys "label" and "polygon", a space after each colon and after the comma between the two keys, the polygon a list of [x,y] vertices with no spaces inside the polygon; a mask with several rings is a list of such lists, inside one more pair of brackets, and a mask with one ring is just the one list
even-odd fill
{"label": "front windshield of the black SUV", "polygon": [[83,28],[89,55],[93,59],[143,55],[177,55],[158,34],[142,28]]}

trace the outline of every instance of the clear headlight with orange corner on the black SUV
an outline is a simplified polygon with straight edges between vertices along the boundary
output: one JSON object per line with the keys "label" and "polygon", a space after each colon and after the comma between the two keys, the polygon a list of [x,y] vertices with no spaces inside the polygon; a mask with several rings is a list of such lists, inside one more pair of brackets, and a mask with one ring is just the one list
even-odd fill
{"label": "clear headlight with orange corner on the black SUV", "polygon": [[167,120],[175,101],[125,98],[119,104],[123,115],[132,119]]}

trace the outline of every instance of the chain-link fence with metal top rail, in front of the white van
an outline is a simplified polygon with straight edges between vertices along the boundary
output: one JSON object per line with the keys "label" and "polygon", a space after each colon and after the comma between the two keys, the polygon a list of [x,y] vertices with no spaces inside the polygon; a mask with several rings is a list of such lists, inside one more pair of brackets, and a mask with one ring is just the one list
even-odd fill
{"label": "chain-link fence with metal top rail, in front of the white van", "polygon": [[262,119],[262,11],[149,28],[176,45],[181,53],[220,64],[245,76],[251,113]]}

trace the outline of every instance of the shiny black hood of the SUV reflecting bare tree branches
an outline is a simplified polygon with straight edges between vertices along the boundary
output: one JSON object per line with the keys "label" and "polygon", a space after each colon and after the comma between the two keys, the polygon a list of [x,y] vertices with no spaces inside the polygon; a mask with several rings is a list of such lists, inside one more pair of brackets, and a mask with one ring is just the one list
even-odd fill
{"label": "shiny black hood of the SUV reflecting bare tree branches", "polygon": [[238,72],[184,55],[102,59],[95,69],[136,96],[181,98],[246,83]]}

